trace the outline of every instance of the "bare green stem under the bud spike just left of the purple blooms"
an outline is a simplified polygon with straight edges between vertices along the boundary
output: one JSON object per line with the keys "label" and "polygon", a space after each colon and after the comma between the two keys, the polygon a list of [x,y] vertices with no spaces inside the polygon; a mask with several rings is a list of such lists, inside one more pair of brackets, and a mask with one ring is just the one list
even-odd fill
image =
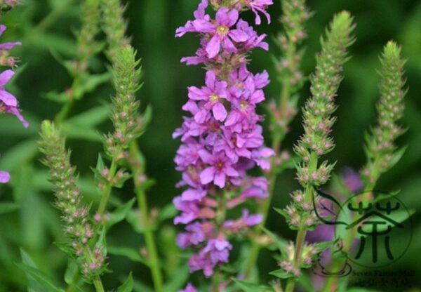
{"label": "bare green stem under the bud spike just left of the purple blooms", "polygon": [[152,225],[150,224],[149,219],[149,208],[147,205],[147,198],[145,191],[139,180],[140,175],[142,175],[142,166],[138,165],[137,162],[139,159],[139,147],[136,141],[133,141],[130,145],[130,155],[132,159],[135,159],[135,163],[131,165],[133,173],[133,183],[135,184],[135,193],[138,197],[138,206],[140,209],[140,215],[142,217],[142,225],[145,227],[144,236],[146,242],[146,248],[149,255],[149,268],[152,273],[152,281],[154,281],[154,288],[156,292],[163,292],[163,281],[161,274],[161,265],[159,263],[158,252],[156,248],[156,243],[154,239],[154,232],[152,230]]}

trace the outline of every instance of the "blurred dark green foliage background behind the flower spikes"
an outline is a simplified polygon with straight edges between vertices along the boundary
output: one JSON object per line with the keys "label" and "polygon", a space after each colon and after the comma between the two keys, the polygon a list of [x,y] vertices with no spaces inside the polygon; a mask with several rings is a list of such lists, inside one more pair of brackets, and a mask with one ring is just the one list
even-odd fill
{"label": "blurred dark green foliage background behind the flower spikes", "polygon": [[[193,55],[198,38],[188,35],[175,39],[175,28],[192,18],[199,1],[196,0],[132,0],[123,1],[128,5],[128,33],[133,36],[132,44],[142,58],[143,81],[139,97],[142,105],[152,105],[153,121],[147,133],[140,139],[142,151],[147,158],[149,177],[156,184],[149,191],[149,202],[154,208],[162,208],[179,193],[174,185],[180,179],[175,172],[173,157],[179,140],[173,140],[171,133],[182,122],[182,104],[187,99],[187,86],[203,84],[204,72],[200,67],[180,64],[180,58]],[[269,9],[273,22],[258,27],[258,32],[271,36],[280,31],[276,19],[281,13],[280,1]],[[375,102],[378,98],[376,69],[377,58],[382,46],[390,39],[403,46],[403,56],[408,58],[406,76],[408,94],[406,111],[402,124],[408,131],[399,138],[399,145],[408,145],[406,154],[396,167],[382,176],[380,190],[401,190],[400,199],[417,211],[413,215],[413,241],[406,254],[389,269],[415,270],[421,274],[421,1],[415,0],[314,0],[309,6],[315,12],[307,24],[307,51],[303,71],[309,74],[314,69],[314,53],[319,51],[319,38],[333,13],[346,9],[355,16],[356,43],[351,48],[352,59],[345,65],[345,79],[340,86],[336,115],[338,122],[333,135],[337,147],[329,154],[329,159],[337,160],[337,171],[345,166],[361,168],[365,162],[363,133],[375,122]],[[243,18],[252,21],[253,14],[244,13]],[[58,211],[51,206],[53,195],[48,192],[46,170],[39,164],[36,153],[36,133],[42,119],[53,119],[60,105],[46,98],[51,91],[65,91],[71,79],[65,69],[53,57],[71,59],[74,55],[74,30],[79,27],[79,1],[72,0],[22,0],[22,5],[4,15],[1,23],[8,26],[2,36],[4,41],[22,41],[12,55],[20,58],[20,68],[8,90],[20,100],[23,114],[31,124],[25,130],[13,117],[0,117],[0,169],[11,171],[12,183],[0,185],[0,201],[15,201],[16,210],[0,214],[0,291],[25,291],[25,276],[15,265],[20,261],[19,248],[23,247],[39,266],[57,281],[62,281],[66,259],[53,241],[60,241],[60,221]],[[267,99],[277,98],[280,84],[270,55],[279,55],[276,46],[269,53],[255,51],[250,62],[253,72],[269,71],[272,83],[266,90]],[[105,57],[100,55],[93,63],[98,72],[105,71]],[[301,102],[309,96],[308,83],[301,94]],[[72,115],[108,102],[112,94],[111,84],[104,84],[97,91],[86,95],[79,102]],[[265,109],[260,108],[264,113]],[[292,131],[286,140],[286,147],[302,133],[300,117],[295,119]],[[107,131],[109,124],[100,125]],[[81,129],[83,131],[83,129]],[[269,145],[269,137],[267,138]],[[78,166],[83,178],[83,190],[88,198],[95,201],[92,190],[90,166],[95,166],[102,145],[98,141],[69,137],[72,147],[72,162]],[[42,172],[36,171],[41,169]],[[279,178],[274,197],[274,206],[285,206],[288,193],[295,190],[298,183],[293,171]],[[91,196],[91,197],[90,197]],[[116,192],[116,197],[127,201],[133,197],[130,189]],[[288,239],[293,239],[283,218],[272,211],[269,215],[269,229]],[[171,220],[167,220],[159,239],[171,234]],[[164,234],[162,234],[164,233]],[[409,236],[403,232],[402,237]],[[108,237],[111,243],[123,242],[126,246],[138,247],[142,238],[131,231],[125,223],[114,227]],[[399,241],[399,238],[394,240]],[[163,241],[160,241],[163,244]],[[130,263],[124,258],[111,256],[110,270],[114,276],[105,276],[105,285],[117,286],[133,270],[138,279],[151,284],[149,272],[140,264]],[[169,265],[169,264],[168,264]],[[263,281],[269,279],[267,272],[274,270],[275,261],[270,253],[262,253],[259,261]],[[171,267],[168,267],[171,269]],[[421,280],[418,279],[418,284]],[[416,283],[416,282],[415,282]],[[420,286],[420,285],[419,285]],[[139,286],[138,286],[139,287]],[[142,290],[139,290],[142,291]],[[391,290],[393,291],[393,290]]]}

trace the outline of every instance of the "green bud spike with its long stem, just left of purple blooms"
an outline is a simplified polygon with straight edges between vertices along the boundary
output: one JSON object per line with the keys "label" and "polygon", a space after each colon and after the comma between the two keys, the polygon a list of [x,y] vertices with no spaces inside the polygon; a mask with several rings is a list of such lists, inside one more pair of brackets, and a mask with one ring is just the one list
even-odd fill
{"label": "green bud spike with its long stem, just left of purple blooms", "polygon": [[152,221],[152,214],[149,212],[146,197],[149,180],[145,175],[145,159],[136,140],[145,130],[150,116],[147,112],[140,114],[140,102],[135,98],[136,91],[141,87],[140,60],[136,60],[135,50],[129,45],[130,40],[126,37],[127,24],[123,18],[124,7],[121,6],[120,1],[104,0],[101,10],[102,29],[107,36],[107,57],[113,65],[114,87],[116,88],[111,114],[115,131],[105,139],[106,150],[110,157],[114,157],[112,166],[115,165],[115,161],[125,160],[131,169],[140,209],[140,220],[142,225],[145,225],[144,236],[148,266],[151,270],[155,291],[161,292],[163,291],[163,277],[154,230],[149,224]]}

